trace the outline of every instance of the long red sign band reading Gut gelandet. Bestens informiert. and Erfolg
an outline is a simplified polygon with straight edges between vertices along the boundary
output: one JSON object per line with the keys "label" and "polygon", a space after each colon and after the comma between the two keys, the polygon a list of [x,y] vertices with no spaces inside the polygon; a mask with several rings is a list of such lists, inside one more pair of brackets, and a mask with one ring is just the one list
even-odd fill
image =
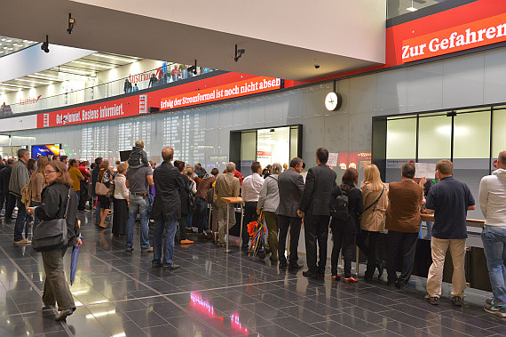
{"label": "long red sign band reading Gut gelandet. Bestens informiert. and Erfolg", "polygon": [[[195,90],[195,85],[199,90]],[[183,108],[281,89],[279,78],[227,73],[154,92],[37,115],[37,128],[105,121],[146,114],[148,107]]]}

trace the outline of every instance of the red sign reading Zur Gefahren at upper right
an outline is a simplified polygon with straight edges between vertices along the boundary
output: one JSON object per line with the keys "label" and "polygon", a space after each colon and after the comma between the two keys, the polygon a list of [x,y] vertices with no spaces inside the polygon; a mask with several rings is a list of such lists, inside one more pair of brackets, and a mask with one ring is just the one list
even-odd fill
{"label": "red sign reading Zur Gefahren at upper right", "polygon": [[506,12],[402,41],[402,63],[506,41]]}

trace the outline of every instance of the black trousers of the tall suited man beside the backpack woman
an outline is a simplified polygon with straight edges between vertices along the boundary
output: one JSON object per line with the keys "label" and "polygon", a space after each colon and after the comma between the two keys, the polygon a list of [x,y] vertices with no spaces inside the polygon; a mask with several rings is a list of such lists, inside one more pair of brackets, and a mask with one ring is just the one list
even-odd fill
{"label": "black trousers of the tall suited man beside the backpack woman", "polygon": [[[327,264],[328,215],[305,214],[304,238],[307,267],[310,272],[324,274]],[[316,244],[320,249],[320,260],[316,265]]]}

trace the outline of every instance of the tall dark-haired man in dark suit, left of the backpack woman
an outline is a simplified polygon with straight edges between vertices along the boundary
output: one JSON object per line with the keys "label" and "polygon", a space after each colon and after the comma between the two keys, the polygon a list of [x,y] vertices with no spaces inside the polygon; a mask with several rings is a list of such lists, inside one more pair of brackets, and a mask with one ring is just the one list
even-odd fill
{"label": "tall dark-haired man in dark suit, left of the backpack woman", "polygon": [[[330,195],[336,186],[337,174],[327,166],[327,148],[317,148],[316,164],[307,173],[305,188],[300,199],[298,216],[304,216],[305,253],[308,270],[304,277],[323,278],[327,263]],[[316,266],[316,243],[320,247],[320,261]]]}

